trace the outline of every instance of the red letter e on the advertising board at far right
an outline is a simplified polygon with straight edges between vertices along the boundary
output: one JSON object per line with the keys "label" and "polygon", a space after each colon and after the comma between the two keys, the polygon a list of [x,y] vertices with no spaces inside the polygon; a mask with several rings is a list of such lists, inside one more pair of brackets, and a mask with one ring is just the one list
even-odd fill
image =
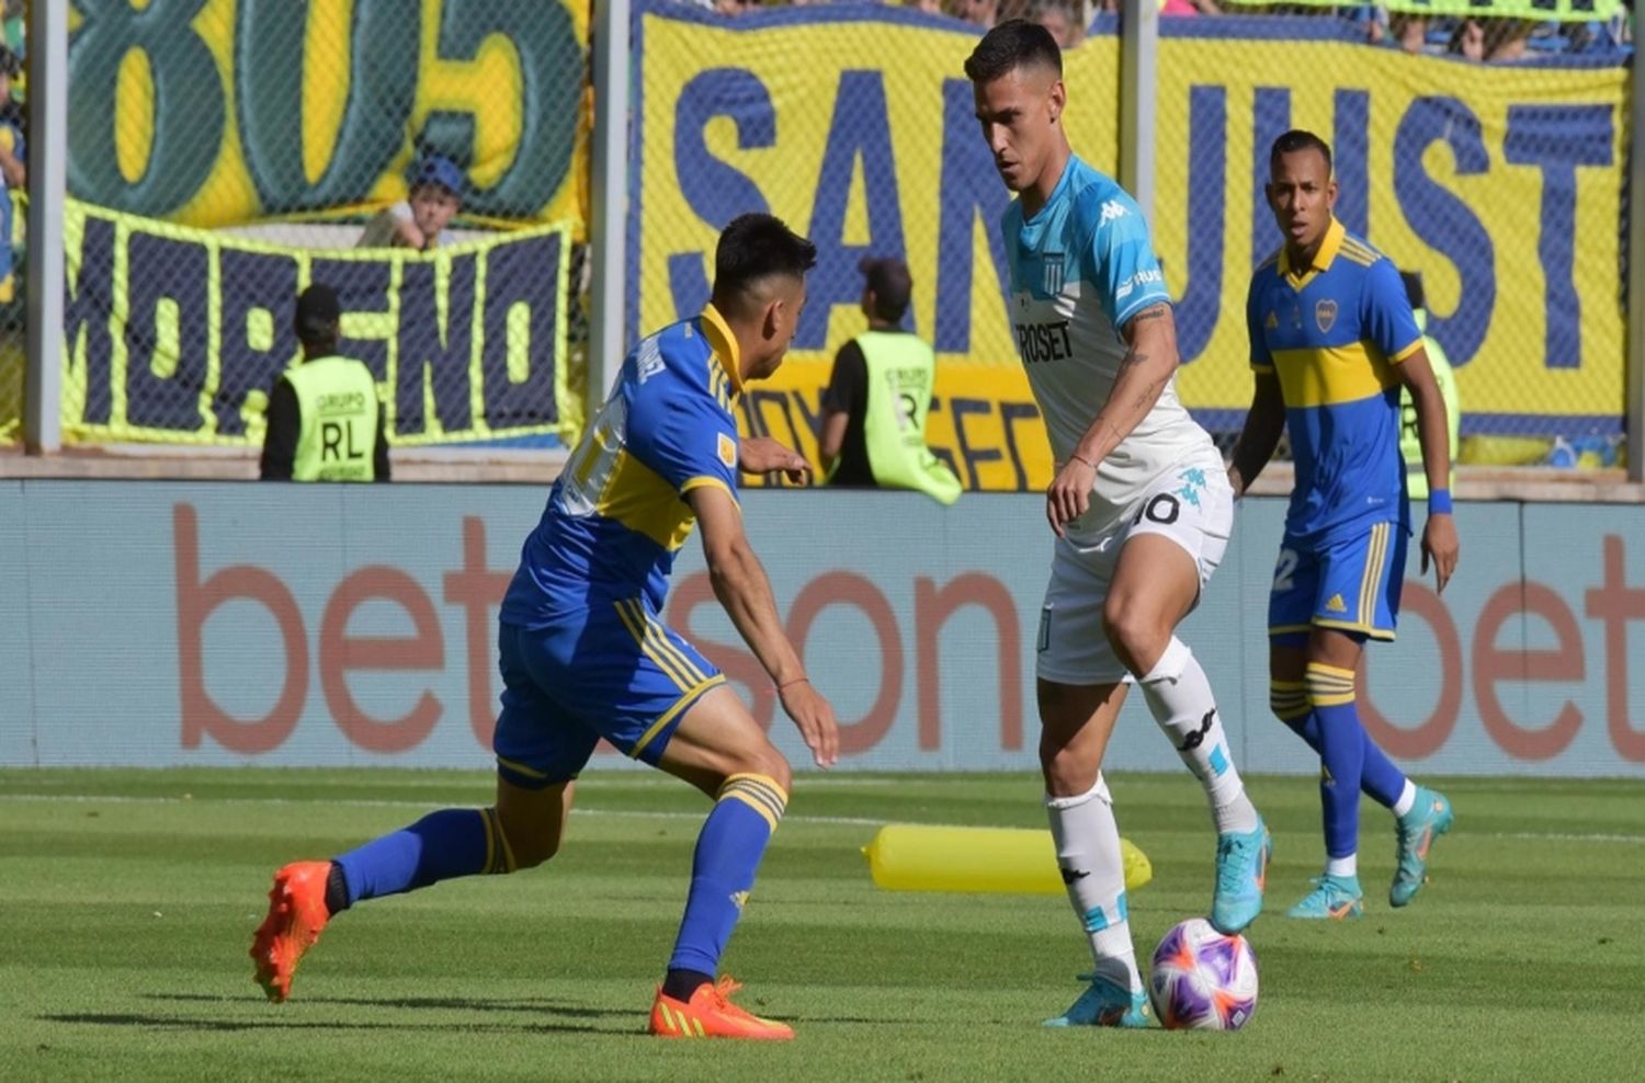
{"label": "red letter e on the advertising board at far right", "polygon": [[[1548,621],[1559,646],[1553,651],[1530,647],[1497,649],[1497,633],[1510,618],[1531,613]],[[1531,730],[1513,721],[1497,698],[1497,685],[1507,680],[1581,680],[1582,636],[1576,615],[1553,588],[1535,580],[1510,583],[1490,595],[1474,628],[1474,702],[1485,733],[1510,756],[1518,759],[1553,759],[1563,753],[1582,726],[1582,712],[1566,700],[1545,728]]]}

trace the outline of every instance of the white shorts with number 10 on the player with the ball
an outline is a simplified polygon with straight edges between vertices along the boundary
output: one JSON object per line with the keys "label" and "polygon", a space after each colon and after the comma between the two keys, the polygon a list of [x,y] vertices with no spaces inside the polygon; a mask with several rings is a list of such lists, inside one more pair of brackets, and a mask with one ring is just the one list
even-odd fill
{"label": "white shorts with number 10 on the player with the ball", "polygon": [[1056,539],[1035,641],[1038,675],[1077,685],[1128,679],[1102,633],[1102,603],[1127,539],[1170,537],[1194,559],[1204,590],[1232,532],[1234,488],[1221,455],[1211,450],[1161,473],[1099,532]]}

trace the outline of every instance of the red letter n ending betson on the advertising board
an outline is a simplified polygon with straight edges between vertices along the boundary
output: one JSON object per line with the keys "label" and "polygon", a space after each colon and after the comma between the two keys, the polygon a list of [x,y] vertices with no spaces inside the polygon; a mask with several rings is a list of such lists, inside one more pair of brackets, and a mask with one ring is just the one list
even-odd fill
{"label": "red letter n ending betson on the advertising board", "polygon": [[943,744],[943,674],[941,631],[957,610],[982,606],[994,618],[995,664],[1000,675],[1000,748],[1023,746],[1023,671],[1022,631],[1017,603],[1005,585],[992,575],[969,572],[938,590],[926,577],[915,580],[915,652],[920,664],[920,748],[931,751]]}

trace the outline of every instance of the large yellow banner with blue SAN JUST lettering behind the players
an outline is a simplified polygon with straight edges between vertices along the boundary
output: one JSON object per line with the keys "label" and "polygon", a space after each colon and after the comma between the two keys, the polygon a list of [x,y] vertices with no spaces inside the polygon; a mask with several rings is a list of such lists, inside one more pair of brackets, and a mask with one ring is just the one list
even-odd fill
{"label": "large yellow banner with blue SAN JUST lettering behind the players", "polygon": [[[1272,28],[1173,20],[1160,41],[1153,225],[1196,416],[1232,431],[1250,403],[1245,289],[1280,240],[1260,186],[1268,145],[1298,125],[1336,146],[1339,217],[1423,273],[1431,334],[1457,366],[1464,432],[1620,431],[1625,69],[1471,66],[1275,39]],[[1003,306],[997,222],[1010,196],[962,69],[974,44],[974,33],[905,8],[717,20],[640,0],[630,340],[702,306],[732,217],[776,214],[818,245],[793,360],[772,383],[801,417],[834,352],[865,327],[857,261],[900,255],[915,286],[905,325],[938,350],[938,449],[967,488],[1043,486],[1038,421],[1007,432],[1000,419],[1031,398]],[[1117,38],[1066,51],[1064,79],[1076,153],[1117,173]],[[985,376],[997,368],[1015,375]],[[1022,472],[990,462],[967,473],[941,408],[969,396],[999,398],[994,421],[967,421],[966,439],[1015,440]]]}

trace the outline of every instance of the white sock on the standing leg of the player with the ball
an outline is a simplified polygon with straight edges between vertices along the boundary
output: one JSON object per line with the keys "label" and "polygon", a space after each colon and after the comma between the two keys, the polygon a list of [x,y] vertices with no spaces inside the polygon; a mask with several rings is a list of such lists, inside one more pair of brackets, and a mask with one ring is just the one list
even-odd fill
{"label": "white sock on the standing leg of the player with the ball", "polygon": [[1099,774],[1097,784],[1077,797],[1046,795],[1045,810],[1068,901],[1091,938],[1097,973],[1133,993],[1142,989],[1125,909],[1120,828],[1107,782]]}

